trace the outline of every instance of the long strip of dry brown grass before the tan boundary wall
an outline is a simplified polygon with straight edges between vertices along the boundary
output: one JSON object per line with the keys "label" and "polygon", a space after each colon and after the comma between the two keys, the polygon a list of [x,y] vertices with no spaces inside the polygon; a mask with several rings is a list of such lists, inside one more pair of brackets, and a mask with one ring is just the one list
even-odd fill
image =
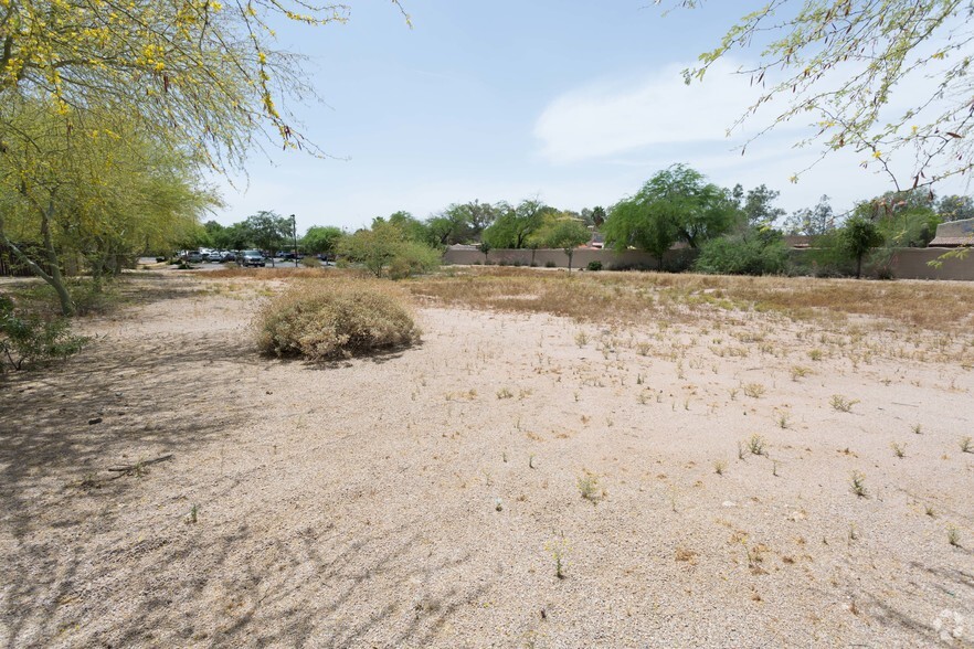
{"label": "long strip of dry brown grass before the tan boundary wall", "polygon": [[864,281],[807,277],[731,277],[666,273],[572,275],[529,268],[451,269],[411,290],[452,306],[544,312],[583,321],[636,322],[653,313],[688,321],[700,311],[754,310],[792,319],[870,316],[932,331],[974,323],[965,283]]}

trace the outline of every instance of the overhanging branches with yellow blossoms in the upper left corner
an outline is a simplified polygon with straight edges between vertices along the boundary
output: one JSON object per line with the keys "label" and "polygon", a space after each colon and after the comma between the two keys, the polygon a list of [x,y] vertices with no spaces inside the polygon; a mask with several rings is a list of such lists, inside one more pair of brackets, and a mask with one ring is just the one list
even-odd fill
{"label": "overhanging branches with yellow blossoms in the upper left corner", "polygon": [[313,89],[299,60],[275,49],[272,23],[348,15],[304,0],[4,1],[0,103],[43,99],[89,131],[139,124],[160,141],[194,142],[216,167],[242,161],[255,132],[307,148],[284,105]]}

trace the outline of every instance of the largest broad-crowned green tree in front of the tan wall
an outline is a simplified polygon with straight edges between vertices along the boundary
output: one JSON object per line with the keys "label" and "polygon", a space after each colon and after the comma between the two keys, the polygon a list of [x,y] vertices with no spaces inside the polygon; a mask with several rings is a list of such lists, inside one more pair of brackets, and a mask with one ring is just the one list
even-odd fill
{"label": "largest broad-crowned green tree in front of the tan wall", "polygon": [[739,211],[719,187],[701,173],[675,164],[657,172],[636,194],[616,203],[605,222],[606,244],[642,248],[663,256],[678,241],[696,248],[730,231]]}

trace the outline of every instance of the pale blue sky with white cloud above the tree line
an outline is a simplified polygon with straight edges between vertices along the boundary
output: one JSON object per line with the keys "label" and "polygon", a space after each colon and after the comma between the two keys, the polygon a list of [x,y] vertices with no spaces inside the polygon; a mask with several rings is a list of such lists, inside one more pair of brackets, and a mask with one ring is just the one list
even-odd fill
{"label": "pale blue sky with white cloud above the tree line", "polygon": [[[749,106],[747,78],[721,64],[687,87],[680,71],[713,46],[747,2],[664,10],[652,0],[403,0],[352,4],[347,24],[285,25],[280,47],[308,56],[322,103],[292,104],[332,159],[268,147],[233,185],[219,180],[224,224],[258,210],[295,214],[298,230],[354,230],[398,210],[420,219],[449,203],[539,196],[561,209],[608,206],[659,169],[685,162],[721,185],[765,183],[788,212],[828,194],[843,211],[890,188],[795,150],[788,125],[742,157],[726,129]],[[747,53],[743,54],[747,56]],[[766,124],[761,115],[749,128]],[[268,160],[269,156],[269,160]],[[953,185],[951,192],[965,187]]]}

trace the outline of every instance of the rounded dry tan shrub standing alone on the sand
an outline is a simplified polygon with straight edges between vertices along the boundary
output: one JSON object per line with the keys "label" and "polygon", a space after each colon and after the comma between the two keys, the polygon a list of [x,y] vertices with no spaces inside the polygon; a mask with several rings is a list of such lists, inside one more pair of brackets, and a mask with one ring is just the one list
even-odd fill
{"label": "rounded dry tan shrub standing alone on the sand", "polygon": [[300,281],[272,299],[254,320],[260,348],[309,360],[405,347],[417,342],[405,296],[380,281]]}

